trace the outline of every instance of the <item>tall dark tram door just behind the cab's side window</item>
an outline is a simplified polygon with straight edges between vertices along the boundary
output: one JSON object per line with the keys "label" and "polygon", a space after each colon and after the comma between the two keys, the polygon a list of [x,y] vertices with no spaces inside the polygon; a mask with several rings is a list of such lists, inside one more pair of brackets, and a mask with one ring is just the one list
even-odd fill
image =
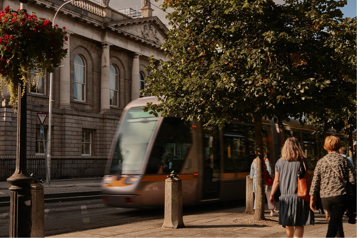
{"label": "tall dark tram door just behind the cab's side window", "polygon": [[204,162],[202,199],[216,199],[220,192],[220,153],[218,130],[203,130]]}

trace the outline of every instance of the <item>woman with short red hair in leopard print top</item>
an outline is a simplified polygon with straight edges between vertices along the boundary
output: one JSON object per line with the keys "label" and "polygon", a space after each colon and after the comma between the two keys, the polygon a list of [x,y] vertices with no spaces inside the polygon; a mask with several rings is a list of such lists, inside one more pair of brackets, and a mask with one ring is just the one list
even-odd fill
{"label": "woman with short red hair in leopard print top", "polygon": [[320,191],[323,208],[330,214],[326,237],[345,237],[343,234],[342,217],[346,211],[346,185],[342,179],[333,171],[328,159],[338,173],[352,184],[356,184],[356,174],[350,162],[338,153],[341,147],[340,138],[328,136],[325,138],[323,148],[328,155],[320,159],[314,170],[310,188],[310,208],[315,212],[315,197]]}

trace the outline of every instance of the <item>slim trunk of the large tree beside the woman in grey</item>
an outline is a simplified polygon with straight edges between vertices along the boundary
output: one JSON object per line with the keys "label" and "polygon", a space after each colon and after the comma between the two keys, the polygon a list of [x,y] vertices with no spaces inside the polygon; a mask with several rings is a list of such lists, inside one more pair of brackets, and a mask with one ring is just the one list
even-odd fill
{"label": "slim trunk of the large tree beside the woman in grey", "polygon": [[256,113],[254,115],[254,131],[255,131],[255,144],[256,152],[259,157],[256,159],[257,163],[257,204],[255,207],[255,212],[253,219],[261,221],[265,219],[265,192],[264,192],[264,152],[263,152],[263,124],[262,124],[262,115]]}

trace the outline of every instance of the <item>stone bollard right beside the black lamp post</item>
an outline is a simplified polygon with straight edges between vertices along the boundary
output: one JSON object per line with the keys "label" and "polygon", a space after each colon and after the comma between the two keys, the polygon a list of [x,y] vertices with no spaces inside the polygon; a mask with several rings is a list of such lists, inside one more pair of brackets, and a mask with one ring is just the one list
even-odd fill
{"label": "stone bollard right beside the black lamp post", "polygon": [[45,237],[44,186],[38,182],[43,183],[43,180],[35,179],[31,184],[31,237]]}

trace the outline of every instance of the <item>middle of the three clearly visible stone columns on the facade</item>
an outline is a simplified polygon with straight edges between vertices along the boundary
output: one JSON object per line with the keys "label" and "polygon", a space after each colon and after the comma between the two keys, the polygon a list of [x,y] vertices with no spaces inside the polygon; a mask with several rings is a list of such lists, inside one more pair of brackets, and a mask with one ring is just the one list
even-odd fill
{"label": "middle of the three clearly visible stone columns on the facade", "polygon": [[110,56],[109,47],[112,44],[102,42],[102,67],[100,79],[100,113],[110,113]]}

